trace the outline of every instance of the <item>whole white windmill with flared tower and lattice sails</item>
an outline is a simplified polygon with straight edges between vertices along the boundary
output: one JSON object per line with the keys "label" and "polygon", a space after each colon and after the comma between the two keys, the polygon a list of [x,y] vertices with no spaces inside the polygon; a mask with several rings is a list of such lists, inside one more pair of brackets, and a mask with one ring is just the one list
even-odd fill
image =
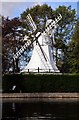
{"label": "whole white windmill with flared tower and lattice sails", "polygon": [[52,56],[52,42],[51,37],[53,36],[54,41],[54,30],[57,23],[61,20],[62,16],[59,14],[55,20],[48,19],[46,27],[43,31],[37,32],[37,26],[35,25],[30,14],[27,15],[27,24],[32,28],[32,40],[25,36],[24,40],[26,43],[21,49],[13,56],[14,61],[30,46],[33,44],[34,49],[32,57],[21,72],[60,72],[53,60]]}

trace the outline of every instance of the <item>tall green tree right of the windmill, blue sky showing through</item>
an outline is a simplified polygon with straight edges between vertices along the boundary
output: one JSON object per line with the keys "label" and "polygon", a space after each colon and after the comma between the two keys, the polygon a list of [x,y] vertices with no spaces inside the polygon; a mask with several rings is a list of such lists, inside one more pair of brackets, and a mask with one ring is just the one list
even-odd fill
{"label": "tall green tree right of the windmill, blue sky showing through", "polygon": [[58,49],[61,49],[62,55],[60,59],[56,59],[57,65],[60,68],[61,72],[68,72],[68,42],[72,38],[74,31],[74,25],[76,23],[76,12],[74,9],[71,9],[71,6],[59,6],[55,11],[54,15],[60,13],[62,15],[62,20],[59,22],[59,27],[57,27],[55,32],[55,41],[56,41],[56,58],[58,55]]}

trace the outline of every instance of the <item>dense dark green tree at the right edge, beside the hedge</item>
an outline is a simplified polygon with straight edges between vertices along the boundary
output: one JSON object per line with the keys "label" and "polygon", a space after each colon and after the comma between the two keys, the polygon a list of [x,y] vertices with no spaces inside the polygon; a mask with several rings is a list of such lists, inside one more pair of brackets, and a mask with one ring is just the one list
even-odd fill
{"label": "dense dark green tree at the right edge, beside the hedge", "polygon": [[72,40],[69,43],[70,72],[79,73],[79,21],[77,21]]}

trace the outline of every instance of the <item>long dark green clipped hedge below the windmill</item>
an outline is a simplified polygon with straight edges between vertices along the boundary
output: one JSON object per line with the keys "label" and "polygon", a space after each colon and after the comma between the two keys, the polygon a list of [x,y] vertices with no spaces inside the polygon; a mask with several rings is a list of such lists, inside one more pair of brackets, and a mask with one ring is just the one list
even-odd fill
{"label": "long dark green clipped hedge below the windmill", "polygon": [[[12,87],[16,85],[15,90]],[[79,74],[10,74],[2,79],[3,92],[79,92]]]}

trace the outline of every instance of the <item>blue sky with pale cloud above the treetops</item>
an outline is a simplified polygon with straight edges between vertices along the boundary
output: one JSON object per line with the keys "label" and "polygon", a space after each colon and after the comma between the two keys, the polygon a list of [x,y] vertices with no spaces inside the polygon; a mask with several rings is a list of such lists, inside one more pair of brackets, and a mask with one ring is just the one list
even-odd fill
{"label": "blue sky with pale cloud above the treetops", "polygon": [[31,0],[16,0],[15,2],[12,0],[12,2],[10,2],[10,0],[2,0],[2,5],[0,5],[0,8],[2,7],[2,9],[0,9],[0,14],[4,17],[8,16],[9,18],[20,17],[20,14],[23,13],[27,8],[31,8],[37,4],[42,5],[45,3],[51,6],[52,9],[56,9],[59,5],[71,5],[72,9],[77,11],[79,6],[77,5],[77,0],[73,0],[73,2],[71,2],[71,0],[63,0],[64,2],[62,0],[60,0],[60,2],[57,0],[55,0],[55,2],[53,2],[53,0],[40,0],[40,2],[39,0],[32,1],[33,2],[31,2]]}

